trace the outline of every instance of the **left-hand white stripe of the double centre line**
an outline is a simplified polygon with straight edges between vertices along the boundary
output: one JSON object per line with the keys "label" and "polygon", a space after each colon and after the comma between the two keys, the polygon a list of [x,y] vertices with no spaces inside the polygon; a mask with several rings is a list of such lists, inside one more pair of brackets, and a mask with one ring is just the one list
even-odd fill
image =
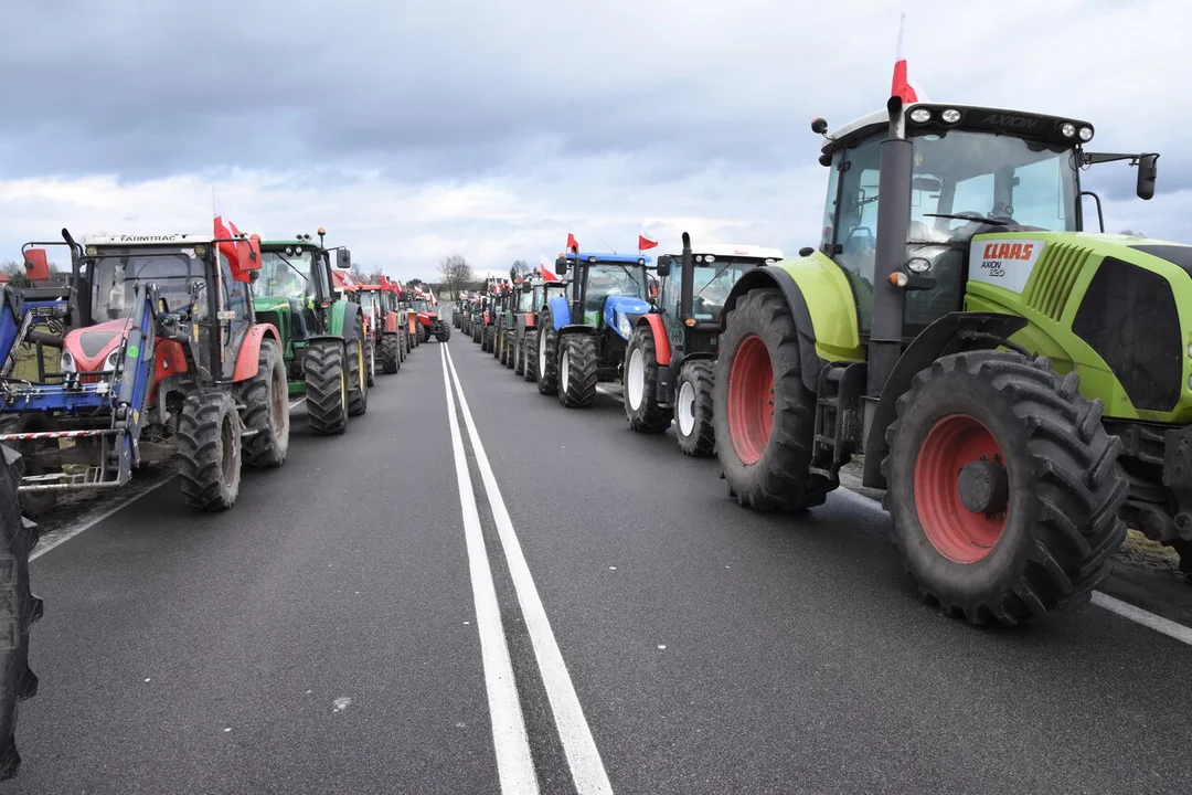
{"label": "left-hand white stripe of the double centre line", "polygon": [[517,698],[513,662],[492,584],[492,570],[484,546],[480,515],[472,491],[472,474],[464,453],[464,437],[455,418],[455,397],[451,375],[447,374],[447,346],[440,346],[443,367],[443,389],[447,391],[447,417],[451,426],[452,451],[455,458],[455,482],[459,486],[460,509],[464,515],[464,538],[467,542],[467,564],[472,576],[472,601],[476,604],[476,625],[480,635],[480,658],[484,663],[484,687],[489,696],[489,716],[492,721],[492,745],[497,756],[497,775],[503,795],[538,790],[538,777],[526,735],[526,720]]}

